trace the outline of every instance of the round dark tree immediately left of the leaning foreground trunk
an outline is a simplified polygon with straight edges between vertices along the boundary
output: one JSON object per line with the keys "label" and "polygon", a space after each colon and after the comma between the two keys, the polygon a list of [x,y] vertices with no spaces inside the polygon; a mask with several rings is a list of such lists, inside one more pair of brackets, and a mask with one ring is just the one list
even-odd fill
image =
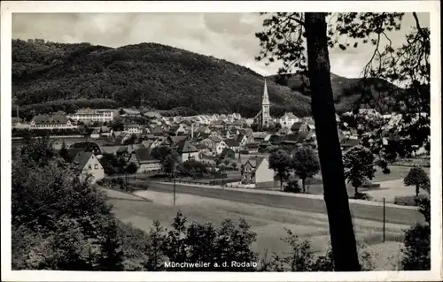
{"label": "round dark tree immediately left of the leaning foreground trunk", "polygon": [[303,193],[305,193],[305,180],[312,178],[320,171],[320,163],[313,149],[300,147],[295,149],[291,157],[291,168],[299,175],[302,181]]}

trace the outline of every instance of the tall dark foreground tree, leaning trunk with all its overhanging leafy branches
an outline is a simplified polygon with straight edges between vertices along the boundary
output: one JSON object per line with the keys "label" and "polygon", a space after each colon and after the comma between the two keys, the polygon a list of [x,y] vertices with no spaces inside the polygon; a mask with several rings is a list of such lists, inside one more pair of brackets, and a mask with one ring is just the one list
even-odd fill
{"label": "tall dark foreground tree, leaning trunk with all its overhanging leafy branches", "polygon": [[[299,71],[308,80],[302,88],[311,94],[311,107],[315,119],[315,131],[319,145],[322,166],[325,202],[330,218],[330,236],[336,271],[359,269],[354,245],[351,217],[348,208],[343,164],[338,146],[337,122],[330,83],[330,62],[328,47],[340,50],[357,48],[359,43],[375,46],[369,64],[364,68],[366,81],[377,83],[374,95],[371,83],[359,85],[361,98],[354,104],[355,112],[368,105],[395,105],[403,115],[402,124],[392,129],[402,140],[400,148],[411,152],[417,145],[429,148],[429,82],[430,82],[430,40],[429,28],[420,26],[415,12],[416,28],[405,38],[400,48],[392,46],[389,32],[399,30],[404,13],[299,13],[277,12],[263,20],[264,31],[256,34],[260,39],[260,56],[266,64],[282,62],[279,73]],[[329,25],[325,18],[328,19]],[[389,44],[383,42],[387,40]],[[401,85],[407,91],[391,91],[389,82]],[[370,94],[370,95],[369,95]],[[424,114],[418,115],[418,112]],[[384,158],[381,126],[367,137],[371,151]],[[410,141],[408,141],[410,140]],[[368,146],[369,146],[368,145]],[[388,154],[392,156],[392,154]],[[326,166],[324,166],[324,165]],[[379,164],[386,164],[380,162]],[[324,172],[323,172],[324,171]],[[384,168],[385,172],[386,167]],[[345,219],[344,219],[345,218]],[[344,219],[344,220],[343,220]]]}

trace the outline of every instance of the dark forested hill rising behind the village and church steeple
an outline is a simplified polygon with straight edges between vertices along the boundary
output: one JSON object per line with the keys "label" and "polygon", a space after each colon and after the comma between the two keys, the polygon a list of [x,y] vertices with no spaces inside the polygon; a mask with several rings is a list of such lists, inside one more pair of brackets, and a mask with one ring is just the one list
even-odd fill
{"label": "dark forested hill rising behind the village and church steeple", "polygon": [[[253,117],[262,92],[263,77],[244,66],[156,43],[113,49],[12,40],[12,98],[20,112],[144,106]],[[270,81],[271,114],[309,114],[310,98],[302,92]]]}

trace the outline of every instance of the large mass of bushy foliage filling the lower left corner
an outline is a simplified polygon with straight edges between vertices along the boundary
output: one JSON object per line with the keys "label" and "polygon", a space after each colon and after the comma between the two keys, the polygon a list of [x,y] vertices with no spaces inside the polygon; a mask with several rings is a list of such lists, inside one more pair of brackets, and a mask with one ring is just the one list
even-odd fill
{"label": "large mass of bushy foliage filling the lower left corner", "polygon": [[116,221],[105,195],[49,155],[48,142],[28,145],[12,162],[12,246],[21,248],[12,250],[12,267],[122,270]]}

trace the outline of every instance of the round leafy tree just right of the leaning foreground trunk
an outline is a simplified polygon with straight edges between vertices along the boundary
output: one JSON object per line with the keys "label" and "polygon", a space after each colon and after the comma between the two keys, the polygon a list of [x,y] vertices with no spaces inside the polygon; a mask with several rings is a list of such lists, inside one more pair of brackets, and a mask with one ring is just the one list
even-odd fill
{"label": "round leafy tree just right of the leaning foreground trunk", "polygon": [[358,188],[374,177],[374,155],[369,149],[357,146],[346,152],[343,164],[345,177],[348,183],[355,188],[355,197],[358,197]]}

